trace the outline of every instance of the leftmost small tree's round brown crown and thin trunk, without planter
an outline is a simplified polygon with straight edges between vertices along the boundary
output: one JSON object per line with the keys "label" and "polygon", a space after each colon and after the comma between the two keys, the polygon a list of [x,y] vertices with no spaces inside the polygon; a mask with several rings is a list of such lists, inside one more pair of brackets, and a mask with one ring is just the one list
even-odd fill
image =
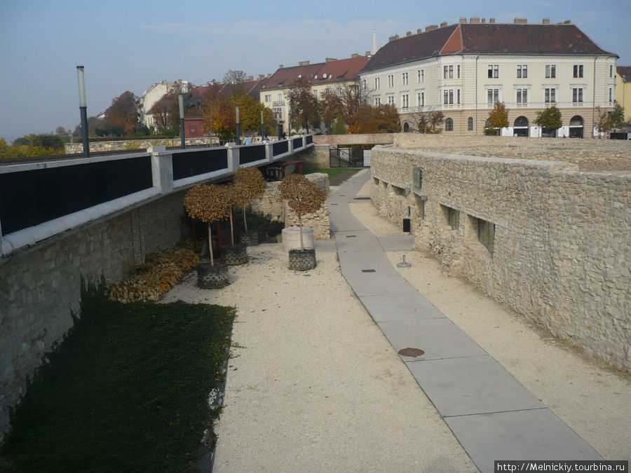
{"label": "leftmost small tree's round brown crown and thin trunk, without planter", "polygon": [[184,207],[189,217],[199,219],[208,224],[208,249],[210,265],[215,266],[212,257],[212,232],[210,224],[230,216],[232,203],[225,186],[200,184],[189,189],[184,196]]}

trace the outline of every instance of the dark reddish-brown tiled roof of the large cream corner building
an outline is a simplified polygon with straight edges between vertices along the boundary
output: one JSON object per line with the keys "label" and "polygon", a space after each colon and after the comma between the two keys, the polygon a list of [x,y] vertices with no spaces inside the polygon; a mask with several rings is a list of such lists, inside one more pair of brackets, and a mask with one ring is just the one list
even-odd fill
{"label": "dark reddish-brown tiled roof of the large cream corner building", "polygon": [[614,55],[575,25],[462,23],[389,41],[363,71],[449,54]]}

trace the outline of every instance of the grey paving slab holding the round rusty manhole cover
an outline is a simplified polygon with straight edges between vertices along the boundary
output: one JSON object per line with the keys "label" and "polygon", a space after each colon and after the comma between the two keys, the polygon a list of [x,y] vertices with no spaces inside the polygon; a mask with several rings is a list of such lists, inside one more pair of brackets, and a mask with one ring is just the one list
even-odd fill
{"label": "grey paving slab holding the round rusty manhole cover", "polygon": [[447,317],[396,320],[377,325],[397,352],[403,348],[423,350],[419,357],[399,355],[405,362],[488,355]]}

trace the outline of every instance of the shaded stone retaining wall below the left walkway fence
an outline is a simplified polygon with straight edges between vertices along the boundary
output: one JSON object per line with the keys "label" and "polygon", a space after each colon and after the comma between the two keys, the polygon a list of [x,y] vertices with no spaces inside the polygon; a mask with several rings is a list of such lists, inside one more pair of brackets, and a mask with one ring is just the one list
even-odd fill
{"label": "shaded stone retaining wall below the left walkway fence", "polygon": [[93,224],[0,263],[0,433],[41,357],[72,326],[80,280],[118,280],[182,238],[184,193]]}

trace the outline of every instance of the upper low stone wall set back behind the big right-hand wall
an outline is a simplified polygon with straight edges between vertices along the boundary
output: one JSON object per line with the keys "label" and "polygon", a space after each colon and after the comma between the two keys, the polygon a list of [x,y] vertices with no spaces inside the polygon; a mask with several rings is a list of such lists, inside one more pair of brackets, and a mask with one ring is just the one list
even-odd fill
{"label": "upper low stone wall set back behind the big right-hand wall", "polygon": [[526,138],[397,133],[400,149],[487,158],[536,159],[574,163],[583,171],[631,171],[631,141],[617,139]]}

